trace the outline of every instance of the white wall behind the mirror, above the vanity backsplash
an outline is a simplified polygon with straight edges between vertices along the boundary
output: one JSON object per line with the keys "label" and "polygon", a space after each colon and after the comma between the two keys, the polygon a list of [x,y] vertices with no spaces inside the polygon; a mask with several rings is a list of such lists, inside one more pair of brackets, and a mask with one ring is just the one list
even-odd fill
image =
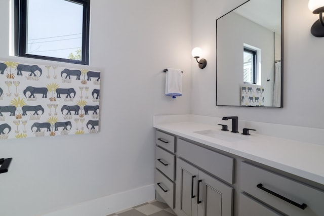
{"label": "white wall behind the mirror, above the vanity backsplash", "polygon": [[285,0],[284,108],[215,106],[216,19],[244,2],[192,0],[192,47],[203,49],[208,61],[203,70],[192,63],[192,114],[324,128],[324,38],[310,33],[318,15],[308,10],[307,0]]}

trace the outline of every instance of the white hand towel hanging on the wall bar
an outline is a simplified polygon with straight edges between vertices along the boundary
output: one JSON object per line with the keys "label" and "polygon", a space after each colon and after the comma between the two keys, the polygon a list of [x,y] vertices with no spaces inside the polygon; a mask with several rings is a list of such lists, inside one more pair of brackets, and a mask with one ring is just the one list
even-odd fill
{"label": "white hand towel hanging on the wall bar", "polygon": [[166,78],[166,95],[176,98],[182,96],[182,74],[181,70],[168,68]]}

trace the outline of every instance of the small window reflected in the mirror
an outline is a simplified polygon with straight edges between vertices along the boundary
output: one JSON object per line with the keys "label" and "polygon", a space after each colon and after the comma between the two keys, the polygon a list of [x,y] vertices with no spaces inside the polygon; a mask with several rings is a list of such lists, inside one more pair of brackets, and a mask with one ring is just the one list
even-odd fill
{"label": "small window reflected in the mirror", "polygon": [[257,83],[257,51],[244,47],[243,51],[243,81],[244,83]]}

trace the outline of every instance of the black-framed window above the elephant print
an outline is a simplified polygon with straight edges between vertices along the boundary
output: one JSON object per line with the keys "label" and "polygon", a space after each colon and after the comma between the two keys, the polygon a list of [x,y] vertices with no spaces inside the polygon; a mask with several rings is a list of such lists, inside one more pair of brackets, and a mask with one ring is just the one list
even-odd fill
{"label": "black-framed window above the elephant print", "polygon": [[90,0],[15,0],[15,55],[89,64]]}

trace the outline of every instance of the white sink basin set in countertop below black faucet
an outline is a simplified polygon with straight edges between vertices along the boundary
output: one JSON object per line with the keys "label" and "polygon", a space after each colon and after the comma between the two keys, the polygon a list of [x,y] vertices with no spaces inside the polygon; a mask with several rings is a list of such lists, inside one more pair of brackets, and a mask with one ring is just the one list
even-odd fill
{"label": "white sink basin set in countertop below black faucet", "polygon": [[205,130],[205,131],[195,131],[193,133],[204,135],[207,137],[212,137],[218,140],[223,140],[226,142],[237,142],[240,140],[245,140],[247,139],[246,136],[240,135],[239,133],[231,133],[229,131],[213,131],[213,130]]}

